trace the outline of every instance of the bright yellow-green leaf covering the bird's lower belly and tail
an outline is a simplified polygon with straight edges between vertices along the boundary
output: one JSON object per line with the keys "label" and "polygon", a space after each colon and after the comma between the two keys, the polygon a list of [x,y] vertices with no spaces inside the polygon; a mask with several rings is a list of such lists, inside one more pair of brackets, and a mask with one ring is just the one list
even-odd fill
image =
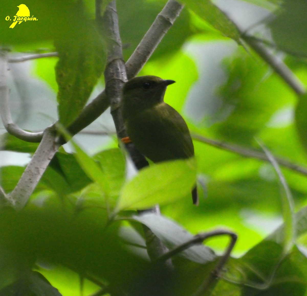
{"label": "bright yellow-green leaf covering the bird's lower belly and tail", "polygon": [[196,181],[194,159],[153,164],[142,169],[122,188],[117,211],[145,209],[185,197]]}

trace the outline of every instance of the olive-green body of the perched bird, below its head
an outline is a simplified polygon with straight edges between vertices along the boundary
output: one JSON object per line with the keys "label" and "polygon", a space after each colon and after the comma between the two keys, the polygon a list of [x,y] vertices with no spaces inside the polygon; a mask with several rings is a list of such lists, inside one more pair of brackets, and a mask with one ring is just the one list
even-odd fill
{"label": "olive-green body of the perched bird, below its head", "polygon": [[153,162],[189,158],[194,147],[181,115],[166,103],[140,112],[126,123],[136,147]]}

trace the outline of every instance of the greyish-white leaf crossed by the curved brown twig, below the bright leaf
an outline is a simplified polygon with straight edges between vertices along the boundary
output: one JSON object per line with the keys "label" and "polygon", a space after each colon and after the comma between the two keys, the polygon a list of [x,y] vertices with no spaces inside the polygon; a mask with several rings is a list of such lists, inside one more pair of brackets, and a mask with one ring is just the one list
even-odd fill
{"label": "greyish-white leaf crossed by the curved brown twig, below the bright leaf", "polygon": [[[148,213],[133,216],[133,218],[150,228],[150,230],[169,248],[177,247],[193,238],[191,233],[187,232],[173,220],[164,216]],[[189,247],[185,251],[179,253],[179,255],[201,264],[213,261],[216,258],[214,252],[203,244]]]}

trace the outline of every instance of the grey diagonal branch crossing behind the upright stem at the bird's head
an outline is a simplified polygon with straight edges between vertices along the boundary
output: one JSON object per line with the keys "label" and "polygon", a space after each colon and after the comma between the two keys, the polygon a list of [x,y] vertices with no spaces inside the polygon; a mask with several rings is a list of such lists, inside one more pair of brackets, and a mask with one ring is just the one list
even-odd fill
{"label": "grey diagonal branch crossing behind the upright stem at the bird's head", "polygon": [[[169,20],[169,23],[165,21],[165,27],[161,29],[159,26],[157,26],[157,24],[161,23],[161,16],[155,19],[148,32],[145,34],[147,37],[143,37],[140,45],[138,45],[137,49],[134,51],[134,53],[132,53],[131,57],[126,63],[126,74],[129,79],[142,69],[144,62],[150,58],[153,50],[168,32],[171,24],[176,20],[181,10],[182,5],[178,4],[177,1],[169,0],[166,3],[162,11],[163,17],[166,20]],[[154,42],[147,40],[148,35],[154,36]],[[142,57],[142,60],[139,60],[139,57]],[[83,109],[79,117],[68,127],[68,131],[72,135],[77,134],[80,130],[83,130],[95,119],[97,119],[104,111],[107,110],[109,106],[110,102],[106,97],[105,91],[103,91]]]}

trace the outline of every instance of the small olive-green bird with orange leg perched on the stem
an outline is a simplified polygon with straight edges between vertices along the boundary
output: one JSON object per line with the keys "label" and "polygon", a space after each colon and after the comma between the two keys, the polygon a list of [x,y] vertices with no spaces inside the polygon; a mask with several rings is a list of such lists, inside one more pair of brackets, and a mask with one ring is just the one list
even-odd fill
{"label": "small olive-green bird with orange leg perched on the stem", "polygon": [[[133,142],[154,163],[194,156],[185,120],[164,102],[166,88],[173,83],[174,80],[148,75],[132,78],[122,88],[121,111],[128,134],[122,141]],[[196,185],[192,201],[198,205]]]}

